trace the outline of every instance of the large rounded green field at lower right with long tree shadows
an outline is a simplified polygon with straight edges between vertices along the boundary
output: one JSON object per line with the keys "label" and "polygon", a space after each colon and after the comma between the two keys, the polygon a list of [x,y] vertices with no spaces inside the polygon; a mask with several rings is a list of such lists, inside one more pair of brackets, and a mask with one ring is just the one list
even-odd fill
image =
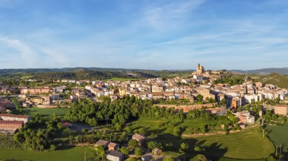
{"label": "large rounded green field at lower right with long tree shadows", "polygon": [[206,153],[212,160],[233,159],[264,159],[275,148],[268,138],[263,138],[262,134],[255,129],[249,131],[230,133],[228,135],[203,136],[198,138],[155,138],[163,145],[172,143],[175,149],[180,149],[182,142],[189,144],[188,151],[193,152],[194,146],[205,148]]}

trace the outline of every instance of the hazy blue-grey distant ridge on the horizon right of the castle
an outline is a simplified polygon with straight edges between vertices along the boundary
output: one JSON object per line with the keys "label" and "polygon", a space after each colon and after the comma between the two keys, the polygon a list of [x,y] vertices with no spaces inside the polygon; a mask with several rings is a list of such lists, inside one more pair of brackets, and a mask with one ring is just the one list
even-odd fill
{"label": "hazy blue-grey distant ridge on the horizon right of the castle", "polygon": [[[245,70],[228,70],[230,72],[245,73]],[[281,75],[288,74],[288,67],[283,68],[264,68],[256,70],[247,70],[248,74],[269,75],[271,73],[278,73]]]}

